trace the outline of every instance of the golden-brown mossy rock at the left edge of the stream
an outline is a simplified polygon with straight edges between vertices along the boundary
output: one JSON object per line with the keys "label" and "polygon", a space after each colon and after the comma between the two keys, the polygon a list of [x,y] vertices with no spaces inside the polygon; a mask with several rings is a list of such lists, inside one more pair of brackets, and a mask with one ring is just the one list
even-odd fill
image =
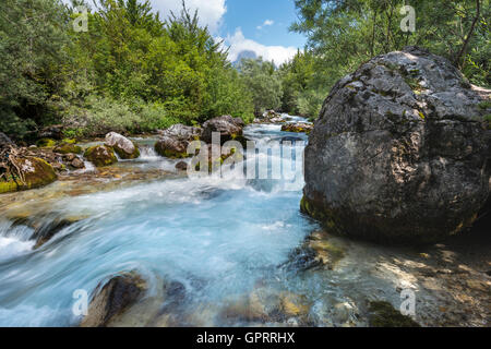
{"label": "golden-brown mossy rock at the left edge of the stream", "polygon": [[17,190],[29,190],[48,185],[58,179],[52,166],[41,158],[22,157],[16,159],[16,166],[22,172],[19,174],[9,174],[0,180],[0,194],[14,192]]}

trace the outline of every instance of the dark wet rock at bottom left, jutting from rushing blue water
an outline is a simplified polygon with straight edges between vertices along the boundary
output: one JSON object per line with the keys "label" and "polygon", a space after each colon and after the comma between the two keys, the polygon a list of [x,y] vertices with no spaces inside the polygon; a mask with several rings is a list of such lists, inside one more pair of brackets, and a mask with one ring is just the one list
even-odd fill
{"label": "dark wet rock at bottom left, jutting from rushing blue water", "polygon": [[146,281],[136,273],[124,273],[100,282],[88,306],[81,327],[110,327],[147,289]]}

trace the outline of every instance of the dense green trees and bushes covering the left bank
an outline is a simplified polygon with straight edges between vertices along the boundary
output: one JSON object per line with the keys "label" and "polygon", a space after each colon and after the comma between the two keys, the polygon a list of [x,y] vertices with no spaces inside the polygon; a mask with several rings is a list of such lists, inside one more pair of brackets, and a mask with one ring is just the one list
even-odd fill
{"label": "dense green trees and bushes covering the left bank", "polygon": [[[0,4],[0,130],[62,121],[67,136],[145,132],[220,115],[253,118],[252,97],[197,13],[163,21],[148,1],[98,0],[75,32],[58,0]],[[12,24],[13,23],[13,24]]]}

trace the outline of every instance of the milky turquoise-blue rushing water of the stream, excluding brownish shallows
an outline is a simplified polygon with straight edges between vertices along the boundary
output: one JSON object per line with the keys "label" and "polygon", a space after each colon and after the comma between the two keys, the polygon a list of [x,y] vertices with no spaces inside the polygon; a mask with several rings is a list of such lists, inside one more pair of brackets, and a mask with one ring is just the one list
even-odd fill
{"label": "milky turquoise-blue rushing water of the stream, excluding brownish shallows", "polygon": [[[270,167],[280,156],[267,160],[267,149],[278,148],[282,137],[300,137],[288,152],[301,153],[307,141],[306,135],[280,132],[279,125],[248,127],[247,136],[259,153],[246,163],[258,158]],[[284,160],[291,158],[284,154]],[[128,165],[173,167],[151,149]],[[220,304],[264,279],[287,284],[290,276],[280,265],[315,229],[299,213],[302,167],[297,165],[292,180],[244,179],[239,170],[227,170],[223,178],[161,179],[64,197],[44,207],[46,219],[88,218],[39,250],[32,250],[31,228],[3,221],[0,326],[77,325],[73,292],[91,293],[101,280],[124,270],[139,270],[154,289],[161,279],[181,282],[189,306]]]}

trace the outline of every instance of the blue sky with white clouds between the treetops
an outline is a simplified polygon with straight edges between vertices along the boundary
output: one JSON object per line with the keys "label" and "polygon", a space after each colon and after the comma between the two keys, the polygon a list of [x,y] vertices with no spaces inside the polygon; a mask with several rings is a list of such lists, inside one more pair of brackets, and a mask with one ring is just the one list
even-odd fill
{"label": "blue sky with white clouds between the treetops", "polygon": [[[149,1],[161,19],[169,11],[178,12],[182,3],[182,0]],[[185,0],[185,3],[192,11],[197,9],[201,23],[230,47],[230,61],[236,61],[242,51],[253,51],[282,64],[306,44],[302,35],[288,31],[297,20],[294,0]]]}

